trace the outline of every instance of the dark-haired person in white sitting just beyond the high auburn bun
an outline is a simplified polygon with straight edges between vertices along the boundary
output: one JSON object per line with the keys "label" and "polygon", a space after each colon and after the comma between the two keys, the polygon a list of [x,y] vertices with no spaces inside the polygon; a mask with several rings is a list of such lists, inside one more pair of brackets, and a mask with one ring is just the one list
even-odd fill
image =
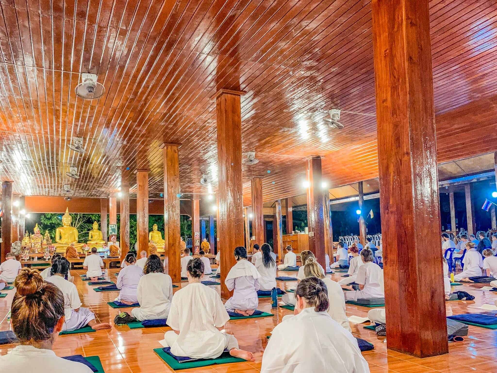
{"label": "dark-haired person in white sitting just beyond the high auburn bun", "polygon": [[110,329],[109,323],[97,324],[95,314],[81,306],[76,285],[66,280],[71,264],[66,258],[58,258],[52,263],[51,276],[46,279],[56,285],[64,295],[63,331],[73,331],[90,326],[93,330]]}

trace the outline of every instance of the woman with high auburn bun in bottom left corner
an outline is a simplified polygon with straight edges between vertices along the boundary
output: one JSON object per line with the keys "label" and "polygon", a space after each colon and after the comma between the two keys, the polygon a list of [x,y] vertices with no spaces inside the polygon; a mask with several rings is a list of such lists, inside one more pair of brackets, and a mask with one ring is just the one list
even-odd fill
{"label": "woman with high auburn bun in bottom left corner", "polygon": [[64,325],[64,295],[39,272],[24,269],[15,280],[11,325],[19,344],[0,356],[2,372],[92,373],[81,363],[59,358],[52,351]]}

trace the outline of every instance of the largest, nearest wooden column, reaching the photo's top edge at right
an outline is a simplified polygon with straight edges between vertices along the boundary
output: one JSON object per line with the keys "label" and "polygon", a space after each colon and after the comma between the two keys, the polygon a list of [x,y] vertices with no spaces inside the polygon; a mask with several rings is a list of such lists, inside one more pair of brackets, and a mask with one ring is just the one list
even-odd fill
{"label": "largest, nearest wooden column, reaching the photo's top edge at right", "polygon": [[446,354],[428,0],[373,0],[372,19],[387,347]]}

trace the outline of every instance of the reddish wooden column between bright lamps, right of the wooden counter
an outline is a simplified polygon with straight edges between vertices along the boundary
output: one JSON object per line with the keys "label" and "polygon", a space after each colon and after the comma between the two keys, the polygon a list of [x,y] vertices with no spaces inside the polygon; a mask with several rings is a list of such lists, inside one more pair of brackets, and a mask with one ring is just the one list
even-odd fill
{"label": "reddish wooden column between bright lamps, right of the wooden counter", "polygon": [[310,157],[307,160],[307,219],[309,226],[309,250],[318,263],[326,267],[325,260],[325,218],[323,206],[323,188],[321,186],[321,157]]}

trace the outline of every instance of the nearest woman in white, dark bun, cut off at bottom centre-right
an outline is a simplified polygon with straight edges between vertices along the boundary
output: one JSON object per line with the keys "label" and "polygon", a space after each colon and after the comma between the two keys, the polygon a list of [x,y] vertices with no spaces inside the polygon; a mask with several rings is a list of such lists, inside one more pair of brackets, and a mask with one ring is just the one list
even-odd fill
{"label": "nearest woman in white, dark bun, cut off at bottom centre-right", "polygon": [[325,282],[306,278],[295,294],[295,316],[271,332],[260,372],[369,373],[357,340],[326,312],[330,300]]}

